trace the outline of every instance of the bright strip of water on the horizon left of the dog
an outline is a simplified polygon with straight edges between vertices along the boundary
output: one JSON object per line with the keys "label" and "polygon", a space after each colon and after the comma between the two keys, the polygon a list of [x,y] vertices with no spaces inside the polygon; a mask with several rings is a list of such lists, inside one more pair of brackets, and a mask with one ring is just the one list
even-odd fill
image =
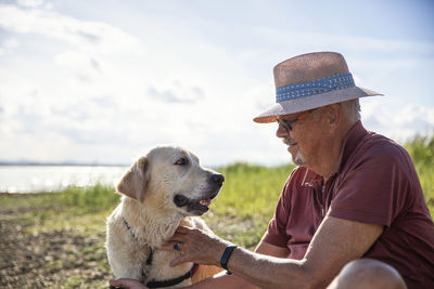
{"label": "bright strip of water on the horizon left of the dog", "polygon": [[69,185],[115,185],[127,167],[0,166],[0,192],[53,192]]}

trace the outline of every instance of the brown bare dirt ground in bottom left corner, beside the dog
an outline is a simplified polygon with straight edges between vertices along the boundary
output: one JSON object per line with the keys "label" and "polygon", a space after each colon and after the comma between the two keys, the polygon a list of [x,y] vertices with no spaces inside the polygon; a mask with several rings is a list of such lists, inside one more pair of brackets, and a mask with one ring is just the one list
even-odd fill
{"label": "brown bare dirt ground in bottom left corner, beside the dog", "polygon": [[11,213],[0,210],[0,288],[108,288],[103,233],[31,233]]}

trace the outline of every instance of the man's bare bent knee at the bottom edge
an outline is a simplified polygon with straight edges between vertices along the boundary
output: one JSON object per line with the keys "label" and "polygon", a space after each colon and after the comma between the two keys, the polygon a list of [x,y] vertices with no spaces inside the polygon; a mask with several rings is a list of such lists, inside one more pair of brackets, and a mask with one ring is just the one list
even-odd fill
{"label": "man's bare bent knee at the bottom edge", "polygon": [[378,260],[359,259],[346,264],[328,289],[407,288],[399,273]]}

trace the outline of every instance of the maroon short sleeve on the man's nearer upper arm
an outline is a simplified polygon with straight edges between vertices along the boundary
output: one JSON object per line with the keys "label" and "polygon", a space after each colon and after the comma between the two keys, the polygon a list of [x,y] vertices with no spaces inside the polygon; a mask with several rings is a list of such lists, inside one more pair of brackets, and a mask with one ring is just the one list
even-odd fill
{"label": "maroon short sleeve on the man's nearer upper arm", "polygon": [[411,191],[411,168],[400,149],[386,148],[365,155],[342,178],[329,215],[391,226]]}

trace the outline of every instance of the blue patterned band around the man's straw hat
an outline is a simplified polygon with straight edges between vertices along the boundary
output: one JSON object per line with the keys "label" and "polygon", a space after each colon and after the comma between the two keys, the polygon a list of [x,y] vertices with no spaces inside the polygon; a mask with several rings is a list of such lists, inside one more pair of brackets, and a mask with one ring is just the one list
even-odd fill
{"label": "blue patterned band around the man's straw hat", "polygon": [[328,76],[309,82],[276,88],[276,102],[281,103],[355,86],[350,73]]}

